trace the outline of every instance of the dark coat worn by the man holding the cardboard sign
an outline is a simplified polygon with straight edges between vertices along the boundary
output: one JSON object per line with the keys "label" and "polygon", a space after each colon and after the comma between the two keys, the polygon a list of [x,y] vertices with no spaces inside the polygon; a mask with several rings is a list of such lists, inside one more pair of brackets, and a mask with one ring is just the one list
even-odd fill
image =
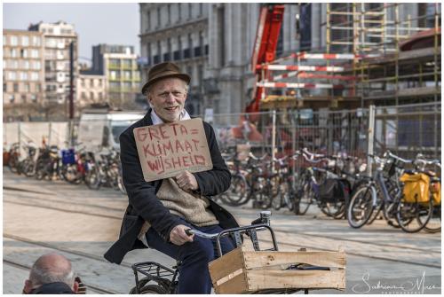
{"label": "dark coat worn by the man holding the cardboard sign", "polygon": [[[159,190],[162,180],[147,183],[144,180],[142,168],[140,167],[139,153],[133,129],[153,125],[150,114],[151,109],[143,119],[132,124],[119,137],[123,184],[128,193],[130,203],[123,217],[119,239],[104,255],[109,262],[120,264],[126,253],[136,248],[146,247],[137,238],[145,221],[150,223],[151,228],[154,228],[165,241],[169,240],[170,231],[178,224],[181,224],[178,216],[171,215],[170,211],[163,207],[162,202],[156,197],[156,192]],[[226,163],[218,150],[218,142],[214,130],[205,121],[203,121],[203,128],[205,129],[205,135],[210,148],[213,168],[208,171],[194,173],[194,176],[197,184],[199,184],[200,193],[208,198],[229,188],[231,174],[228,168],[226,168]],[[214,213],[223,229],[239,226],[233,215],[213,200],[209,200],[210,210]]]}

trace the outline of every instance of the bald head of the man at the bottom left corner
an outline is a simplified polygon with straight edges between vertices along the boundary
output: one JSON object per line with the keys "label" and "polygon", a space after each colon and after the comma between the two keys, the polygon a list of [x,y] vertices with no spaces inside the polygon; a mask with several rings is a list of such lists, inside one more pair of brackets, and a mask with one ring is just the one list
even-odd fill
{"label": "bald head of the man at the bottom left corner", "polygon": [[32,266],[29,280],[34,287],[62,282],[69,287],[74,285],[74,271],[71,262],[60,254],[44,254]]}

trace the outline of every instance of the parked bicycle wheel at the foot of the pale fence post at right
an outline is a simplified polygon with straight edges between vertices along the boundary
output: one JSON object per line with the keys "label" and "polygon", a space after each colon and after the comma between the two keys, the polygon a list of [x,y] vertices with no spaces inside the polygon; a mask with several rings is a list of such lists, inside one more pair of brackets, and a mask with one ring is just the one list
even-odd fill
{"label": "parked bicycle wheel at the foot of the pale fence post at right", "polygon": [[374,195],[376,195],[376,190],[371,185],[361,187],[354,192],[347,209],[347,221],[350,227],[361,228],[369,222],[375,208],[373,206]]}

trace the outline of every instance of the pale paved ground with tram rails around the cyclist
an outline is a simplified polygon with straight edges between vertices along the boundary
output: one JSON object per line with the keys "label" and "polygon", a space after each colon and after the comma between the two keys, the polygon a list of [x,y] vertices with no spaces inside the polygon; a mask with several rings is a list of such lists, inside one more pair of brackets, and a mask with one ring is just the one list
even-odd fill
{"label": "pale paved ground with tram rails around the cyclist", "polygon": [[[127,198],[118,191],[91,191],[85,185],[37,181],[4,168],[3,293],[20,293],[28,270],[41,254],[57,251],[73,262],[89,293],[128,293],[134,284],[131,263],[172,265],[151,249],[127,254],[123,265],[102,255],[118,236]],[[227,207],[241,224],[257,209]],[[307,215],[273,212],[272,225],[282,251],[345,249],[345,293],[440,293],[440,233],[407,234],[384,221],[354,230],[312,207]],[[265,242],[266,244],[266,242]],[[16,263],[13,265],[12,263]],[[17,266],[17,263],[21,265]],[[313,293],[339,293],[323,290]]]}

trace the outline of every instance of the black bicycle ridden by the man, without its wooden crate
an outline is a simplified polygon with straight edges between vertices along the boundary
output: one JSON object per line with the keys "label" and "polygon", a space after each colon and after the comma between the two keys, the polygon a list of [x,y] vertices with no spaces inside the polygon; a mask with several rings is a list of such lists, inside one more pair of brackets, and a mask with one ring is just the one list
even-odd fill
{"label": "black bicycle ridden by the man, without its wooden crate", "polygon": [[[218,248],[218,256],[222,256],[222,249],[220,246],[220,238],[231,236],[234,238],[235,246],[242,246],[243,235],[248,235],[251,243],[254,247],[255,251],[261,251],[259,242],[258,242],[258,231],[269,231],[271,234],[273,247],[269,249],[269,251],[278,251],[278,246],[276,243],[276,239],[274,237],[274,231],[270,226],[270,211],[262,211],[259,214],[258,219],[251,222],[250,225],[242,226],[238,228],[227,229],[221,231],[219,233],[208,234],[203,233],[201,231],[196,231],[192,229],[188,229],[186,233],[188,235],[194,234],[195,236],[199,236],[202,238],[210,238],[216,240],[217,248]],[[168,268],[163,266],[157,262],[139,262],[135,263],[131,266],[136,285],[131,288],[130,293],[177,293],[178,289],[178,268],[180,267],[180,262],[176,266],[172,268]],[[291,265],[289,270],[329,270],[327,267],[313,266],[313,265]],[[139,278],[139,275],[142,278]],[[284,288],[284,289],[267,289],[266,291],[261,291],[257,293],[296,293],[297,291],[304,290],[305,293],[308,293],[308,289],[292,289],[292,288]]]}

